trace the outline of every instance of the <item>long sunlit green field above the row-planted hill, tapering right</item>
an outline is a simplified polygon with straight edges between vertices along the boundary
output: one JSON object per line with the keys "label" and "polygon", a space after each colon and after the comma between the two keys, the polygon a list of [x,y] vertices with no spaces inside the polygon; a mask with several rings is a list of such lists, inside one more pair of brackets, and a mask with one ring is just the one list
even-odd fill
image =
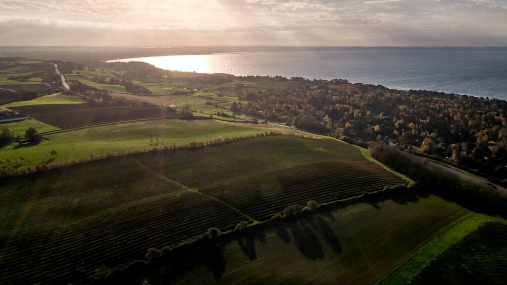
{"label": "long sunlit green field above the row-planted hill, tapering right", "polygon": [[[57,129],[47,124],[38,127],[40,122],[26,120],[22,122],[3,124],[14,129],[16,133],[24,135],[29,126],[39,131]],[[265,131],[285,131],[265,125],[232,124],[220,121],[187,121],[177,119],[151,120],[132,123],[121,123],[106,126],[90,127],[80,130],[66,131],[46,135],[39,145],[16,148],[18,142],[12,142],[0,149],[0,157],[14,159],[23,156],[23,167],[32,166],[41,161],[47,161],[46,153],[56,150],[58,156],[53,162],[88,158],[90,155],[117,154],[121,151],[152,149],[150,140],[159,138],[166,146],[186,145],[191,141],[204,142],[215,138],[245,136]],[[158,147],[162,147],[159,145]]]}

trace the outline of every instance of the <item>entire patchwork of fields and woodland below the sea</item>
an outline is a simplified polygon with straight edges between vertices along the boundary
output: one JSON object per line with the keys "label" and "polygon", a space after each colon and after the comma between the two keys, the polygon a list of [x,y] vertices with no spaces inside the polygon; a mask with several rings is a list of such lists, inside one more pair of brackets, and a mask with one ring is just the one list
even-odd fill
{"label": "entire patchwork of fields and woodland below the sea", "polygon": [[2,284],[507,281],[507,102],[0,57]]}

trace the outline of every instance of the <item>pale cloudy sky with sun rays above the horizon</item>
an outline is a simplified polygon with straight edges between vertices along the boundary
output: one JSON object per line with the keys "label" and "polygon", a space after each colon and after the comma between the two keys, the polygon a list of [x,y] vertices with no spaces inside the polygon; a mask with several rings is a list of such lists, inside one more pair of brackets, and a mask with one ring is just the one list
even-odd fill
{"label": "pale cloudy sky with sun rays above the horizon", "polygon": [[0,0],[2,46],[507,46],[507,0]]}

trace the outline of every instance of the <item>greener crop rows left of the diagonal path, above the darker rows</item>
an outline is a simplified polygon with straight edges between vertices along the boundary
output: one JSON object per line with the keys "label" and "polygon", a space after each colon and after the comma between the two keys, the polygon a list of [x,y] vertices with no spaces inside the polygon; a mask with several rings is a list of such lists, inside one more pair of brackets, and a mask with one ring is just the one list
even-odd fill
{"label": "greener crop rows left of the diagonal path, above the darker rows", "polygon": [[[130,202],[182,188],[141,167],[131,157],[9,179],[0,197],[0,232],[22,233],[41,223],[72,221]],[[13,181],[14,183],[9,183]],[[27,208],[25,205],[29,204]]]}

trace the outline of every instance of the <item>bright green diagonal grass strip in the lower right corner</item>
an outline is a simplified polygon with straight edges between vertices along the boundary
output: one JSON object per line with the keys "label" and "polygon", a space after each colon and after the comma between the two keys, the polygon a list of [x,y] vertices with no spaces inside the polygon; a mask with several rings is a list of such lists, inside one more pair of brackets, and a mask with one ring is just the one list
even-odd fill
{"label": "bright green diagonal grass strip in the lower right corner", "polygon": [[431,260],[437,259],[440,254],[460,241],[465,235],[477,230],[480,225],[487,222],[507,224],[507,220],[503,218],[476,213],[426,244],[400,267],[389,273],[380,284],[407,284],[409,280],[420,273]]}

